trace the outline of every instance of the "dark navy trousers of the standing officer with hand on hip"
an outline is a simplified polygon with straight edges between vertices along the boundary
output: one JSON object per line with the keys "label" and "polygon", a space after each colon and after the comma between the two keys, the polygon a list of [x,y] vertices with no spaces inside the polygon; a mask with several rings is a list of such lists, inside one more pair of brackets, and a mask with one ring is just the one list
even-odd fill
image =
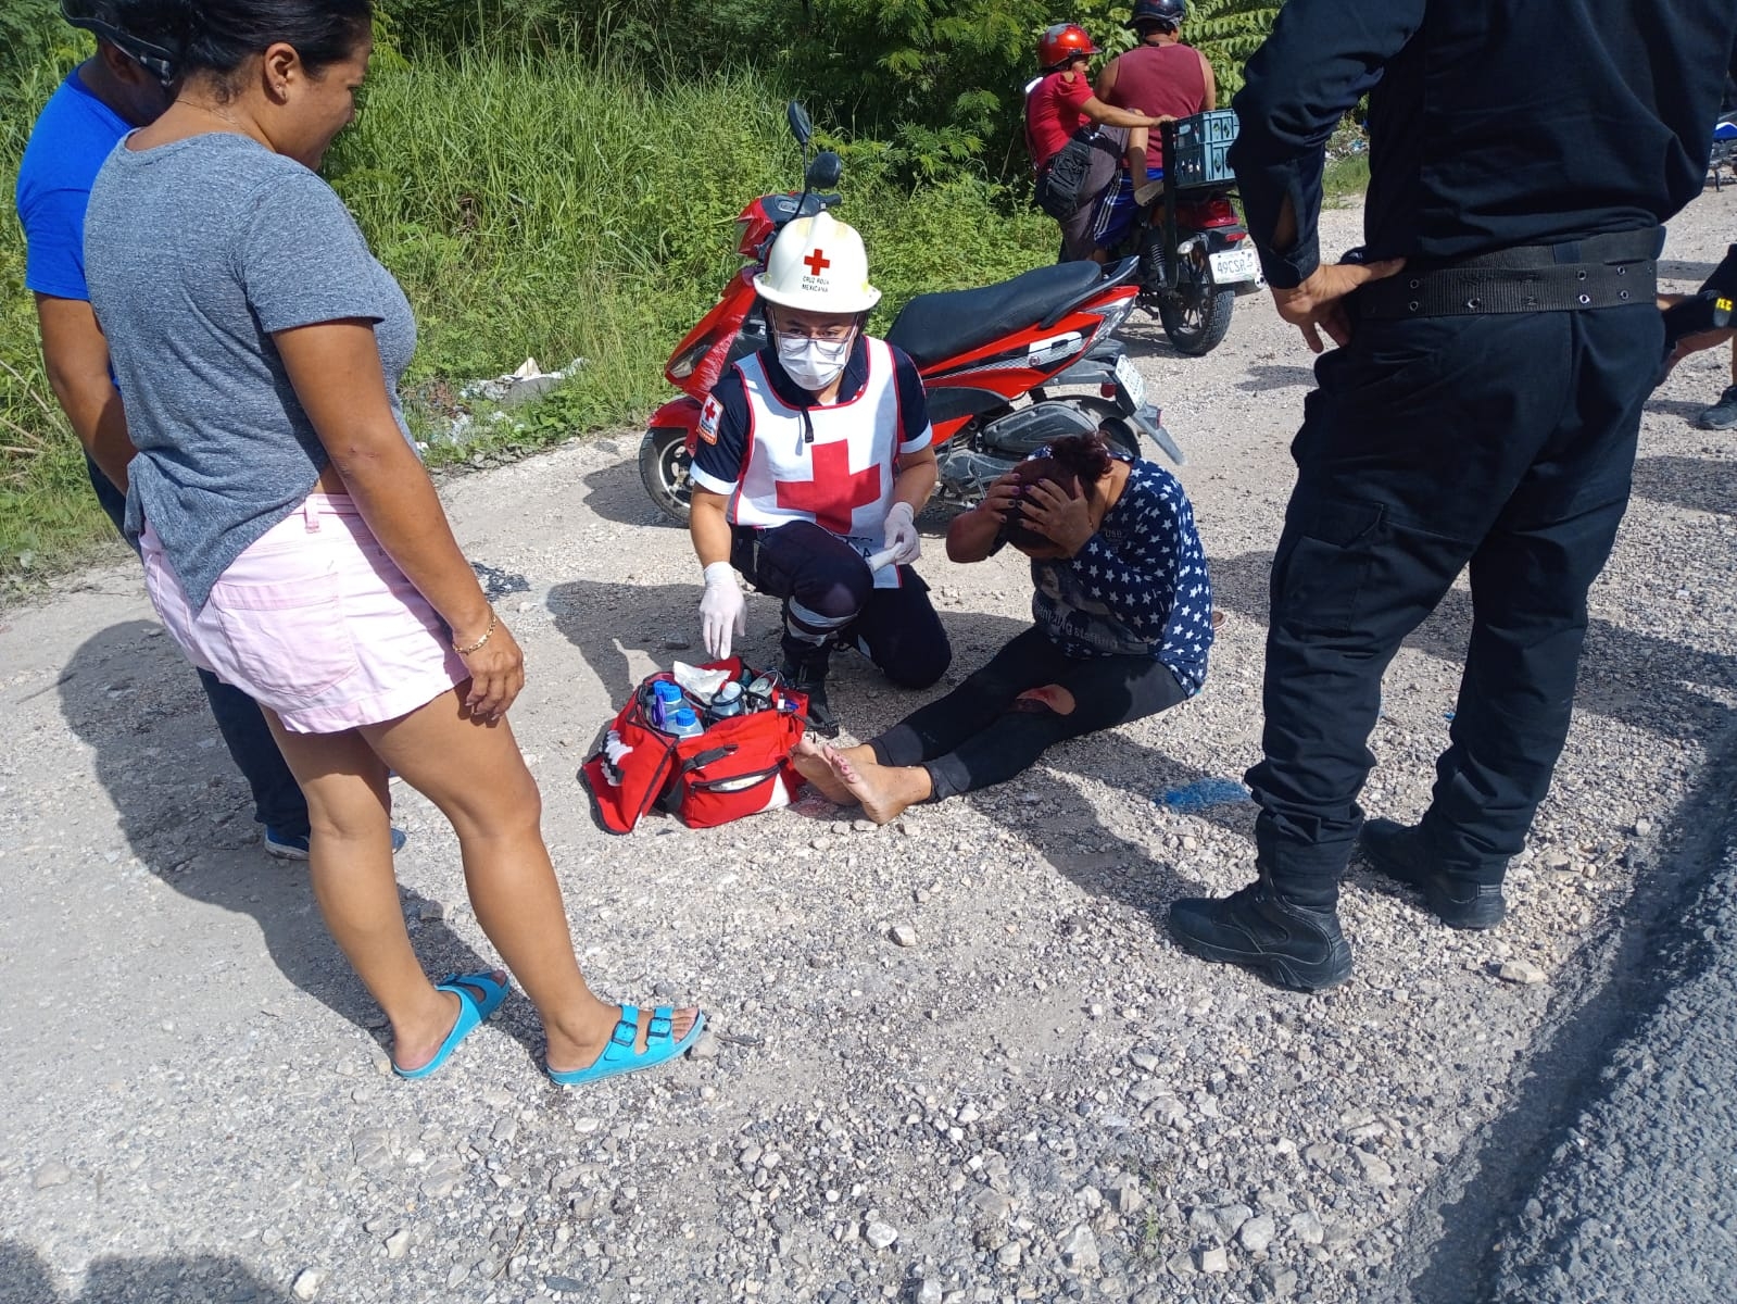
{"label": "dark navy trousers of the standing officer with hand on hip", "polygon": [[1501,882],[1567,739],[1586,591],[1661,348],[1648,303],[1365,320],[1317,363],[1273,558],[1266,758],[1247,775],[1282,895],[1336,902],[1381,676],[1468,565],[1471,642],[1423,828],[1442,866]]}

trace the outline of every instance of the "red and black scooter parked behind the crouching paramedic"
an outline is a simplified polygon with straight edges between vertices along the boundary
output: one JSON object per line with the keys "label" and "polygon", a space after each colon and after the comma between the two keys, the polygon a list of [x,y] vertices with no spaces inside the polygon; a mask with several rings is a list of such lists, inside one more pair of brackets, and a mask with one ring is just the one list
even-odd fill
{"label": "red and black scooter parked behind the crouching paramedic", "polygon": [[[789,120],[806,155],[813,129],[801,104],[790,104]],[[651,414],[639,476],[676,522],[688,520],[688,468],[705,396],[730,363],[768,343],[754,276],[785,223],[839,202],[822,191],[841,174],[835,153],[818,153],[804,169],[801,195],[761,195],[742,209],[736,252],[743,266],[664,369],[683,396]],[[1146,457],[1157,447],[1181,464],[1159,410],[1146,403],[1143,377],[1115,339],[1134,309],[1138,275],[1134,257],[1112,268],[1060,263],[978,290],[919,294],[905,304],[886,339],[922,374],[940,497],[976,502],[1027,454],[1100,426],[1131,456]]]}

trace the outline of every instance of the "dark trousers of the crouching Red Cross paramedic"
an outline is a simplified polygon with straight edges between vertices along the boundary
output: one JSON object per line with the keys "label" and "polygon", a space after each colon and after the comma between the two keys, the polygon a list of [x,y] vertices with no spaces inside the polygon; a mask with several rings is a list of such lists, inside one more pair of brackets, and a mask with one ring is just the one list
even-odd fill
{"label": "dark trousers of the crouching Red Cross paramedic", "polygon": [[834,642],[848,642],[902,689],[928,689],[952,664],[929,586],[910,567],[898,569],[898,588],[877,589],[856,549],[808,522],[736,529],[730,560],[761,593],[783,598],[792,661],[823,657]]}

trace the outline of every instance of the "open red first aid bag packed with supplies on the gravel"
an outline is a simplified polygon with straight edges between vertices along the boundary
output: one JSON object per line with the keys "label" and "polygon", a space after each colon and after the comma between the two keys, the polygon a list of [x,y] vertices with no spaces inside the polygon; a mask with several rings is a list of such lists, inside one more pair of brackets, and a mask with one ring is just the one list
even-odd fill
{"label": "open red first aid bag packed with supplies on the gravel", "polygon": [[[726,669],[738,682],[759,678],[740,657],[712,661],[702,669]],[[676,676],[658,671],[634,689],[580,770],[604,829],[632,833],[653,805],[697,829],[790,805],[802,786],[790,751],[806,725],[806,694],[776,683],[763,699],[768,709],[743,709],[702,734],[677,737],[653,723],[653,685],[660,682],[674,683]]]}

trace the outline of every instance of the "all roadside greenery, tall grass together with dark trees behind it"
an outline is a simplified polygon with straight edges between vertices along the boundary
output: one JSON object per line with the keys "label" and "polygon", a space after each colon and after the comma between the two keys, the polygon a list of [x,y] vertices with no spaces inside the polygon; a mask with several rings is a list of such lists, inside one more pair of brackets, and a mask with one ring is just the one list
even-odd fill
{"label": "all roadside greenery, tall grass together with dark trees behind it", "polygon": [[[1073,16],[1126,47],[1127,3]],[[1277,5],[1197,0],[1190,35],[1233,89]],[[841,217],[886,292],[1016,275],[1054,256],[1028,205],[1020,104],[1037,0],[386,0],[356,125],[327,176],[403,282],[420,341],[408,410],[429,461],[634,424],[664,360],[736,268],[735,216],[801,184],[783,104],[844,155]],[[0,0],[0,177],[89,54],[54,0]],[[0,219],[0,582],[109,544],[42,374],[16,221]],[[526,356],[575,379],[446,438],[467,379]],[[481,416],[488,416],[483,412]]]}

